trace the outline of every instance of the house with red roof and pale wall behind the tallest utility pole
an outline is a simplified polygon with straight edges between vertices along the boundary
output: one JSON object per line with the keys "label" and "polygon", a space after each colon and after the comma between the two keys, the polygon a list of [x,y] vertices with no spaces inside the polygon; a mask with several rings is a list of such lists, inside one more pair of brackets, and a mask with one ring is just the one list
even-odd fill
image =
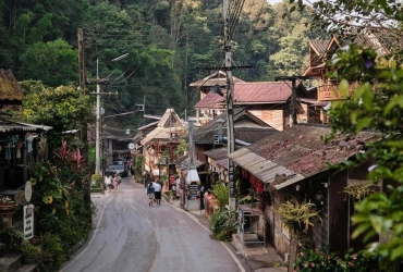
{"label": "house with red roof and pale wall behind the tallest utility pole", "polygon": [[[292,84],[290,82],[235,82],[233,92],[234,107],[247,107],[249,113],[278,131],[291,126]],[[297,122],[307,123],[315,118],[308,107],[317,102],[316,94],[309,92],[302,82],[298,82],[296,97]],[[225,96],[209,92],[194,108],[204,114],[200,116],[202,120],[211,120],[224,111]]]}

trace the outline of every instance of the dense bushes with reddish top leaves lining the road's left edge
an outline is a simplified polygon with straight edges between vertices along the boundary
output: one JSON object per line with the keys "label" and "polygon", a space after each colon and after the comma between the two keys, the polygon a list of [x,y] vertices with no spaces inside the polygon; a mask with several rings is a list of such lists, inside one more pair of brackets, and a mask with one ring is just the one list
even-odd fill
{"label": "dense bushes with reddish top leaves lining the road's left edge", "polygon": [[69,149],[66,141],[53,152],[53,164],[42,161],[29,165],[36,230],[42,236],[41,271],[57,270],[90,230],[87,171],[77,149]]}

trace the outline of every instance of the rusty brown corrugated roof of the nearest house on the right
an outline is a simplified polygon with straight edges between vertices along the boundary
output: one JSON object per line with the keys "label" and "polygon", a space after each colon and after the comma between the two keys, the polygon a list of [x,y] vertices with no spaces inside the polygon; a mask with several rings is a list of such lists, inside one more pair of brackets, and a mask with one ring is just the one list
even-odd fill
{"label": "rusty brown corrugated roof of the nearest house on the right", "polygon": [[365,143],[377,139],[377,134],[362,132],[339,136],[325,144],[320,136],[331,131],[326,126],[298,124],[277,132],[229,157],[264,183],[271,183],[277,175],[288,181],[276,188],[304,180],[323,171],[327,163],[340,163],[363,149]]}

